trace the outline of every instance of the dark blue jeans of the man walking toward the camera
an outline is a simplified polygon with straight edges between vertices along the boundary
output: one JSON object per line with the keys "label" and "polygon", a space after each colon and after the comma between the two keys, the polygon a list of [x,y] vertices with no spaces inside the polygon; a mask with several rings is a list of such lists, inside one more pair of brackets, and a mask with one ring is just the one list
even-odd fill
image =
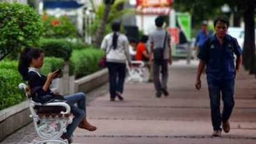
{"label": "dark blue jeans of the man walking toward the camera", "polygon": [[[234,78],[215,79],[207,77],[209,98],[211,103],[211,123],[214,130],[221,129],[221,122],[230,118],[234,107]],[[223,100],[221,115],[220,101]]]}

